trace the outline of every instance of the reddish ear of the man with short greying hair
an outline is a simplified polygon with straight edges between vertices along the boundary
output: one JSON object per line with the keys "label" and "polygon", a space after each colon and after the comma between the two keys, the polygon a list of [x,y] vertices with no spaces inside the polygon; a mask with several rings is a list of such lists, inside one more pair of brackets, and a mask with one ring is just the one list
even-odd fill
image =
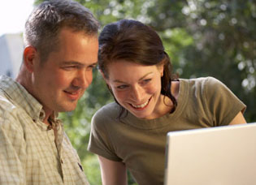
{"label": "reddish ear of the man with short greying hair", "polygon": [[29,72],[33,72],[35,59],[37,58],[37,49],[31,45],[24,49],[24,65]]}

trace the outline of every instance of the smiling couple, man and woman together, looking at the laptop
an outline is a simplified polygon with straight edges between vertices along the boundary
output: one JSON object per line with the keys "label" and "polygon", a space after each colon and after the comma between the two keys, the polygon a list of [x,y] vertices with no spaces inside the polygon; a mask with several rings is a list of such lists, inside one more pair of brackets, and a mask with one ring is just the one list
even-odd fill
{"label": "smiling couple, man and woman together, looking at the laptop", "polygon": [[245,105],[218,80],[172,79],[151,28],[124,19],[99,39],[98,28],[88,9],[66,0],[28,17],[20,73],[0,77],[1,184],[88,184],[57,116],[76,108],[96,65],[115,98],[92,119],[88,149],[103,184],[126,184],[126,169],[139,184],[163,184],[168,131],[246,123]]}

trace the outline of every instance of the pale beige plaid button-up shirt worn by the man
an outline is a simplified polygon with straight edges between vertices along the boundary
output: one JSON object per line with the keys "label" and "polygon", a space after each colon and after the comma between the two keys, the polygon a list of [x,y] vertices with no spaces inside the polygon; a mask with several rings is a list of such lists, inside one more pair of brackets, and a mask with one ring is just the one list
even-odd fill
{"label": "pale beige plaid button-up shirt worn by the man", "polygon": [[0,184],[89,184],[63,124],[43,118],[23,86],[0,76]]}

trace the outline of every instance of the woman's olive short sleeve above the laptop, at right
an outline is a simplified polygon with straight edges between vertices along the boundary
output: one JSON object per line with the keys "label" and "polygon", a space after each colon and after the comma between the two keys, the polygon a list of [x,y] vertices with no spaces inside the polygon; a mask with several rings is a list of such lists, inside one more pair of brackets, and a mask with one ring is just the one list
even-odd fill
{"label": "woman's olive short sleeve above the laptop, at right", "polygon": [[214,126],[228,125],[236,114],[244,113],[246,105],[219,80],[206,78],[204,89],[205,107],[213,118]]}

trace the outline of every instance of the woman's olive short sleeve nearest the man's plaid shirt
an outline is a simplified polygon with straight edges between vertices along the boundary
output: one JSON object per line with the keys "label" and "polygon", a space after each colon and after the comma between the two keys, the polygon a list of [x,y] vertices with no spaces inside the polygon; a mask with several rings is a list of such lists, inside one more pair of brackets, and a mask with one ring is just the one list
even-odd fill
{"label": "woman's olive short sleeve nearest the man's plaid shirt", "polygon": [[104,107],[93,115],[88,150],[111,161],[121,161],[115,154],[115,147],[111,142],[111,135],[108,131],[111,129],[111,122],[112,118],[107,116],[106,108]]}

